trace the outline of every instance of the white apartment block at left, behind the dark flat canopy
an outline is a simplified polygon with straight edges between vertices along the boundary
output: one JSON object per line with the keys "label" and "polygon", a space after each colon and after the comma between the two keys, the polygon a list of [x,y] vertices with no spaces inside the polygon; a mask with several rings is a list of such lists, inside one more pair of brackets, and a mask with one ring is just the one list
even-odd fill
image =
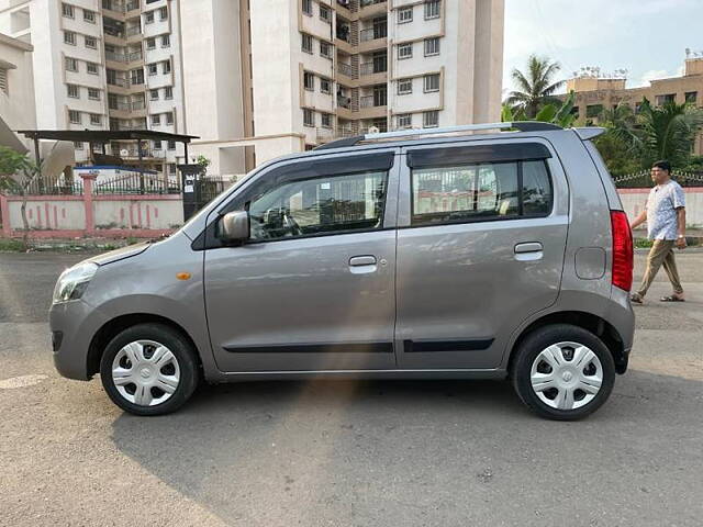
{"label": "white apartment block at left, behind the dark flat canopy", "polygon": [[[179,19],[177,0],[0,0],[0,32],[34,47],[36,126],[47,130],[182,133]],[[89,147],[75,145],[77,162]],[[175,176],[177,147],[107,153]]]}

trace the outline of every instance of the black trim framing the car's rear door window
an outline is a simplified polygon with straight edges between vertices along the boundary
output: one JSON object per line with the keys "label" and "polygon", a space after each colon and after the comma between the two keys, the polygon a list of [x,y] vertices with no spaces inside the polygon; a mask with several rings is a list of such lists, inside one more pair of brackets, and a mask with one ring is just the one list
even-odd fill
{"label": "black trim framing the car's rear door window", "polygon": [[[539,144],[539,143],[537,143]],[[540,145],[540,144],[539,144]],[[494,145],[491,145],[494,146]],[[544,145],[542,145],[544,146]],[[451,148],[451,147],[449,147]],[[468,147],[470,148],[470,147]],[[546,147],[545,147],[546,149]],[[493,160],[493,159],[484,159],[484,160],[477,160],[477,161],[470,161],[470,162],[451,162],[448,165],[432,165],[432,166],[423,166],[423,167],[416,167],[416,168],[447,168],[447,167],[470,167],[470,166],[480,166],[480,165],[498,165],[498,164],[511,164],[514,162],[517,165],[516,167],[516,171],[517,171],[517,214],[511,214],[511,215],[504,215],[504,216],[499,216],[499,215],[491,215],[491,216],[477,216],[477,217],[470,217],[470,218],[459,218],[459,220],[445,220],[445,221],[440,221],[437,223],[424,223],[424,224],[413,224],[413,220],[415,214],[413,213],[414,211],[414,205],[415,205],[415,192],[414,192],[414,186],[413,186],[413,167],[411,166],[411,160],[410,160],[410,156],[406,156],[406,164],[408,167],[410,168],[409,170],[409,178],[410,178],[410,225],[403,225],[403,226],[399,226],[398,228],[426,228],[426,227],[440,227],[440,226],[445,226],[445,225],[461,225],[461,224],[469,224],[469,223],[486,223],[486,222],[506,222],[506,221],[516,221],[516,220],[535,220],[535,218],[540,218],[540,217],[549,217],[553,213],[554,213],[554,208],[555,208],[555,202],[556,202],[556,197],[555,197],[555,184],[554,184],[554,178],[551,177],[551,170],[549,168],[549,164],[547,162],[547,159],[551,158],[551,154],[549,153],[548,149],[547,150],[547,157],[536,157],[536,158],[524,158],[524,159],[500,159],[500,160]],[[412,152],[412,150],[411,150]],[[416,152],[416,150],[415,150]],[[408,153],[410,154],[410,152]],[[528,162],[528,161],[542,161],[544,164],[545,170],[547,172],[547,180],[549,181],[549,189],[551,190],[551,201],[549,203],[549,210],[546,213],[529,213],[529,214],[525,214],[524,212],[524,197],[523,197],[523,164],[524,162]]]}

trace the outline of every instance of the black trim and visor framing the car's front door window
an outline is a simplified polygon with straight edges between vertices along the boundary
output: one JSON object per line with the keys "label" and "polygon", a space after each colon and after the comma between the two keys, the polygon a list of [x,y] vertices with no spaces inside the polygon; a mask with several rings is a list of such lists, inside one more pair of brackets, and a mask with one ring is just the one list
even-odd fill
{"label": "black trim and visor framing the car's front door window", "polygon": [[[303,158],[300,160],[293,160],[292,162],[283,161],[283,164],[280,166],[271,167],[270,170],[268,170],[265,175],[260,175],[256,177],[257,179],[252,181],[252,184],[248,184],[241,190],[242,193],[258,191],[259,192],[258,194],[254,194],[258,197],[258,195],[263,195],[264,192],[267,192],[280,184],[289,183],[289,182],[306,181],[306,180],[313,180],[313,179],[330,178],[335,176],[353,176],[358,173],[384,172],[386,194],[383,197],[382,209],[379,215],[379,217],[381,218],[380,227],[334,231],[328,233],[315,233],[315,234],[309,234],[309,235],[302,235],[302,236],[283,237],[283,238],[275,238],[275,239],[245,240],[244,243],[238,245],[224,244],[216,235],[219,220],[227,212],[232,212],[235,210],[233,202],[237,199],[237,197],[242,195],[239,192],[237,192],[236,195],[227,197],[227,199],[223,203],[221,203],[216,210],[212,211],[209,214],[209,218],[211,218],[210,223],[208,223],[208,225],[203,228],[200,235],[198,235],[198,237],[192,242],[191,249],[208,250],[208,249],[217,249],[217,248],[225,248],[225,247],[242,247],[242,246],[248,246],[248,245],[270,244],[270,243],[277,243],[277,242],[292,242],[297,239],[317,238],[323,236],[344,236],[347,234],[376,233],[381,231],[395,229],[397,228],[395,226],[387,227],[384,225],[384,221],[386,221],[386,210],[388,206],[389,192],[391,191],[389,187],[389,182],[391,180],[391,171],[397,162],[395,161],[397,153],[398,153],[397,148],[392,148],[392,149],[387,149],[387,150],[384,149],[380,152],[359,153],[358,155],[355,153],[353,156],[336,156],[336,157],[322,158],[322,159],[316,159],[312,157],[312,158]],[[369,166],[359,170],[349,169],[349,159],[356,159],[358,161],[359,158],[367,158],[366,160],[369,164]],[[373,160],[378,161],[377,165],[373,165],[372,162]],[[324,165],[325,161],[330,161],[330,164]],[[312,165],[312,168],[317,168],[321,171],[324,170],[324,173],[317,173],[314,176],[295,177],[297,172],[306,170],[303,167],[304,165]],[[338,168],[334,169],[334,165],[337,165]],[[321,168],[325,166],[327,168],[326,170],[324,168]],[[289,171],[288,175],[286,173],[287,168],[292,169],[291,171]],[[333,170],[330,171],[330,168],[333,168]],[[280,170],[282,173],[279,173],[278,179],[271,182],[271,177],[275,176],[274,172],[276,170]],[[270,182],[270,186],[267,184],[269,182]],[[256,189],[257,186],[260,186],[263,190]],[[250,200],[247,201],[247,205],[246,205],[247,208],[248,208],[249,201]]]}

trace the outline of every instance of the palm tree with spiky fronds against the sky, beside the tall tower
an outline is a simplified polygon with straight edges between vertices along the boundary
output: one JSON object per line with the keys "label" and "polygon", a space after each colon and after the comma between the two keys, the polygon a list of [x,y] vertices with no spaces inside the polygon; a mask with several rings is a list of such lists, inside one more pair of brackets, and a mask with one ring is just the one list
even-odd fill
{"label": "palm tree with spiky fronds against the sky, beside the tall tower", "polygon": [[517,68],[513,69],[511,77],[517,90],[511,91],[505,102],[516,110],[523,110],[528,119],[535,117],[545,104],[560,106],[561,101],[554,97],[554,92],[563,85],[563,80],[554,81],[560,69],[559,63],[531,55],[526,75]]}

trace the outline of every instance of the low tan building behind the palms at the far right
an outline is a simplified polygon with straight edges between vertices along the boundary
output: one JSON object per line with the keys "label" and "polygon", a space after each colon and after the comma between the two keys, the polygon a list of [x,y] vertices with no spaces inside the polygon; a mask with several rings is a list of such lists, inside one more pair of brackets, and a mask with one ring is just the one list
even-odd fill
{"label": "low tan building behind the palms at the far right", "polygon": [[[574,113],[594,124],[598,124],[598,116],[604,109],[627,104],[637,111],[645,98],[655,105],[685,102],[702,106],[703,56],[688,51],[682,76],[651,80],[649,86],[638,88],[627,88],[626,85],[627,79],[622,76],[580,75],[567,80],[567,92],[576,93]],[[694,152],[703,154],[702,134],[696,138]]]}

